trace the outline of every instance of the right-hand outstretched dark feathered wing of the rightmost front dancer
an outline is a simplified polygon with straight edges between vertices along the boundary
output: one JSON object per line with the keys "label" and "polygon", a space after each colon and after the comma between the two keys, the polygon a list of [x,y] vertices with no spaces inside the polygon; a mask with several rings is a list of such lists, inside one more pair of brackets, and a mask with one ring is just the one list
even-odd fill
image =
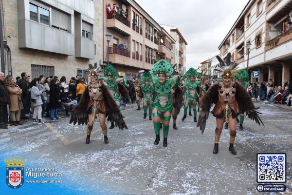
{"label": "right-hand outstretched dark feathered wing of the rightmost front dancer", "polygon": [[[246,92],[246,90],[236,82],[236,94],[235,94],[236,101],[239,105],[239,109],[241,112],[246,112],[246,115],[256,121],[257,124],[264,125],[263,121],[260,119],[258,114],[261,114],[256,111],[256,107],[252,101],[252,98]],[[264,125],[265,126],[265,125]]]}

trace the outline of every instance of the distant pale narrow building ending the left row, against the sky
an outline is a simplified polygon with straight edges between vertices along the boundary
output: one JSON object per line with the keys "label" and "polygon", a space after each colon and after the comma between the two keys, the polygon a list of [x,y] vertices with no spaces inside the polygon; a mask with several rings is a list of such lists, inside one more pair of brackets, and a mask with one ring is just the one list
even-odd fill
{"label": "distant pale narrow building ending the left row, against the sky", "polygon": [[177,27],[160,24],[176,41],[173,44],[174,64],[182,75],[186,72],[186,45],[187,42]]}

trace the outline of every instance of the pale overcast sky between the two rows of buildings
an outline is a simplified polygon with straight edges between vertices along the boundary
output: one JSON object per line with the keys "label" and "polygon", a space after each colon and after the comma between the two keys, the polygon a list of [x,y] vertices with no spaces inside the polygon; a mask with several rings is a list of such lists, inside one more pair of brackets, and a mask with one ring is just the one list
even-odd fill
{"label": "pale overcast sky between the two rows of buildings", "polygon": [[198,67],[219,54],[248,0],[136,0],[160,24],[176,26],[188,43],[186,67]]}

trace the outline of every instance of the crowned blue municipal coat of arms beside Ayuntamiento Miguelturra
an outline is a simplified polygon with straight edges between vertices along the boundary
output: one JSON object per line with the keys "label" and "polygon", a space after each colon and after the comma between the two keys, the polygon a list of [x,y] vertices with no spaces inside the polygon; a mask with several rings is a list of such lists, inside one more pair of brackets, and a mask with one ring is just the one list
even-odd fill
{"label": "crowned blue municipal coat of arms beside Ayuntamiento Miguelturra", "polygon": [[24,167],[25,160],[19,159],[4,159],[6,163],[6,184],[13,189],[20,188],[24,183]]}

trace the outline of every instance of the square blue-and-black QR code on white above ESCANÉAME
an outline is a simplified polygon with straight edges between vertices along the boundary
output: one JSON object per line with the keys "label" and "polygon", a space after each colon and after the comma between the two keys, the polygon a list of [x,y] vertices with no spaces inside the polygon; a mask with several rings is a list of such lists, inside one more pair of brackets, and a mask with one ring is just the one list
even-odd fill
{"label": "square blue-and-black QR code on white above ESCAN\u00c9AME", "polygon": [[286,182],[286,154],[257,154],[257,182]]}

